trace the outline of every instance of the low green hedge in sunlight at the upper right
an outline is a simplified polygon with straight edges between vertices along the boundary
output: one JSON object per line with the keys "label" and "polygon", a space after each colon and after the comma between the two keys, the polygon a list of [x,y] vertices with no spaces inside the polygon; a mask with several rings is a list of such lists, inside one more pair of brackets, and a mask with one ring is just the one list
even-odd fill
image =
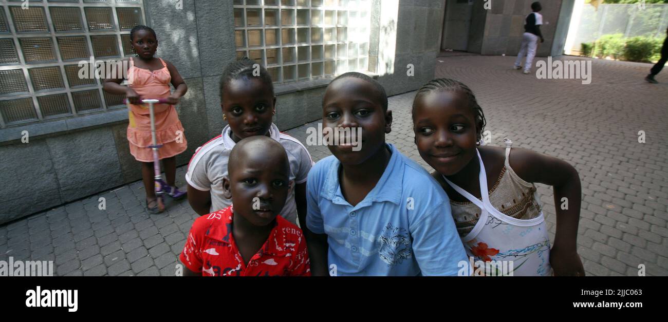
{"label": "low green hedge in sunlight at the upper right", "polygon": [[661,45],[663,39],[643,36],[625,38],[621,33],[615,33],[603,35],[593,43],[582,43],[582,55],[649,63],[659,60]]}

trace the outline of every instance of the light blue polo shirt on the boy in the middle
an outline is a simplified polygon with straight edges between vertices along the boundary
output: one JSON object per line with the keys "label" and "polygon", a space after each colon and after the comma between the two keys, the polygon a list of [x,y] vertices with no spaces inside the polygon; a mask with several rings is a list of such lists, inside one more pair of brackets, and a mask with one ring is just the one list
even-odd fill
{"label": "light blue polo shirt on the boy in the middle", "polygon": [[338,276],[456,276],[468,259],[448,195],[422,166],[387,146],[387,168],[357,206],[343,198],[335,156],[309,172],[306,224],[327,234],[328,267],[336,265]]}

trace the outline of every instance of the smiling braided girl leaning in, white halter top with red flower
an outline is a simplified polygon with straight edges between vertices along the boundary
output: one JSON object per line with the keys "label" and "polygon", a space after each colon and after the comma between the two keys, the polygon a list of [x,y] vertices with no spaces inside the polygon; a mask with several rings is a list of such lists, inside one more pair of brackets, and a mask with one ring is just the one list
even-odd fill
{"label": "smiling braided girl leaning in, white halter top with red flower", "polygon": [[[485,123],[473,92],[454,79],[434,79],[415,95],[415,143],[450,197],[468,255],[472,261],[510,262],[509,275],[585,275],[576,251],[577,171],[558,158],[511,152],[510,140],[506,148],[481,146]],[[534,182],[554,187],[551,248]]]}

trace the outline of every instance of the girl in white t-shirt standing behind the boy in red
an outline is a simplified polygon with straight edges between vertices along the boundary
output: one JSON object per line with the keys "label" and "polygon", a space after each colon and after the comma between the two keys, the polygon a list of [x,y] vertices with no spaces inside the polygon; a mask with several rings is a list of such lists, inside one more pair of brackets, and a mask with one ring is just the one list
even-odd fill
{"label": "girl in white t-shirt standing behind the boy in red", "polygon": [[198,148],[188,164],[186,181],[192,209],[204,215],[229,206],[232,200],[222,195],[222,178],[227,175],[232,147],[248,136],[269,136],[285,148],[290,163],[288,199],[280,214],[304,227],[306,180],[313,160],[299,140],[279,132],[272,123],[276,96],[267,69],[246,57],[232,61],[220,77],[220,106],[228,125],[220,136]]}

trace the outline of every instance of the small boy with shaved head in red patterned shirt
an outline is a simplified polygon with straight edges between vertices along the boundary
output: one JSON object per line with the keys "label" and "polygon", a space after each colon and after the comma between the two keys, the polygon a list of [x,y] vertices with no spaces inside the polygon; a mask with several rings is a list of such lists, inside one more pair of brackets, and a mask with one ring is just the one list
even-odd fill
{"label": "small boy with shaved head in red patterned shirt", "polygon": [[192,224],[179,257],[185,276],[311,276],[301,229],[277,213],[289,169],[283,146],[266,136],[232,148],[222,181],[232,205]]}

